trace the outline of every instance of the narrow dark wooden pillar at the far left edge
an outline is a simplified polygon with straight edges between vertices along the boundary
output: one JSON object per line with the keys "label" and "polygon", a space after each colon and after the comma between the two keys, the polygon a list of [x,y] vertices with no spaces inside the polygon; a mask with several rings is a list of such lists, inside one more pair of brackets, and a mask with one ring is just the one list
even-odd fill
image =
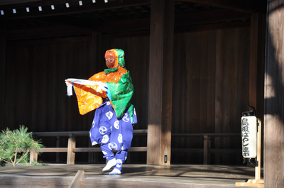
{"label": "narrow dark wooden pillar at the far left edge", "polygon": [[0,130],[4,127],[4,91],[5,91],[5,53],[6,53],[6,23],[0,21]]}

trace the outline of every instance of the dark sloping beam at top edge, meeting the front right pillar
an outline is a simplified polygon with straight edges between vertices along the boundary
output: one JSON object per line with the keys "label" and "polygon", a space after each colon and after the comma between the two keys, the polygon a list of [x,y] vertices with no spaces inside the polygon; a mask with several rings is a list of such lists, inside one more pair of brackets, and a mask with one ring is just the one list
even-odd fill
{"label": "dark sloping beam at top edge, meeting the front right pillar", "polygon": [[202,4],[207,6],[216,6],[226,9],[233,9],[236,11],[246,12],[266,12],[266,1],[257,0],[176,0],[176,1],[187,1],[194,4]]}

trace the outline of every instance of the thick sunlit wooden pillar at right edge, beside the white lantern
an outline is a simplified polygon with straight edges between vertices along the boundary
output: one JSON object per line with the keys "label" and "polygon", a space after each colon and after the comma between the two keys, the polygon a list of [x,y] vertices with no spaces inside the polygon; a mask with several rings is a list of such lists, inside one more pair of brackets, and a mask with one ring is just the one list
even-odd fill
{"label": "thick sunlit wooden pillar at right edge, beside the white lantern", "polygon": [[284,0],[267,1],[264,184],[284,187]]}

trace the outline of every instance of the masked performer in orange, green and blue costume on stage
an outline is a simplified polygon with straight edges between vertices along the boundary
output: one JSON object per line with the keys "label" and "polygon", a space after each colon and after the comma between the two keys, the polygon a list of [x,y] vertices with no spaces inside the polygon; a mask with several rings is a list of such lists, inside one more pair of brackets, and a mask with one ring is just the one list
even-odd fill
{"label": "masked performer in orange, green and blue costume on stage", "polygon": [[107,50],[104,57],[108,67],[104,72],[88,80],[66,79],[65,82],[71,92],[72,86],[75,89],[80,114],[96,109],[89,136],[92,145],[99,144],[107,158],[102,171],[114,167],[109,175],[120,175],[131,147],[133,124],[137,123],[136,111],[130,102],[134,89],[129,71],[124,68],[124,50]]}

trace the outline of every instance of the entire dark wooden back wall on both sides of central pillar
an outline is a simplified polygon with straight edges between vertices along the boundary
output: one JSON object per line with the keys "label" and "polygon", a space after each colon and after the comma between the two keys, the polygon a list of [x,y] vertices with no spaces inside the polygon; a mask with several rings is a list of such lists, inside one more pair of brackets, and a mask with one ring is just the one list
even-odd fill
{"label": "entire dark wooden back wall on both sides of central pillar", "polygon": [[[24,125],[29,131],[89,131],[94,112],[79,114],[76,97],[66,96],[64,79],[87,79],[104,70],[104,52],[111,48],[126,53],[126,69],[136,91],[132,102],[138,124],[134,128],[147,128],[149,36],[103,37],[97,49],[102,54],[99,62],[91,61],[91,40],[90,35],[6,41],[1,130]],[[241,112],[249,103],[249,41],[247,27],[175,34],[173,133],[241,133]],[[134,138],[133,144],[146,145],[146,138]],[[202,145],[202,138],[172,138],[172,148]],[[218,138],[212,146],[241,148],[241,140]],[[140,161],[145,162],[145,157]],[[241,153],[212,158],[217,164],[236,164],[241,162]],[[173,153],[171,159],[172,164],[202,162],[202,154],[196,153]]]}

